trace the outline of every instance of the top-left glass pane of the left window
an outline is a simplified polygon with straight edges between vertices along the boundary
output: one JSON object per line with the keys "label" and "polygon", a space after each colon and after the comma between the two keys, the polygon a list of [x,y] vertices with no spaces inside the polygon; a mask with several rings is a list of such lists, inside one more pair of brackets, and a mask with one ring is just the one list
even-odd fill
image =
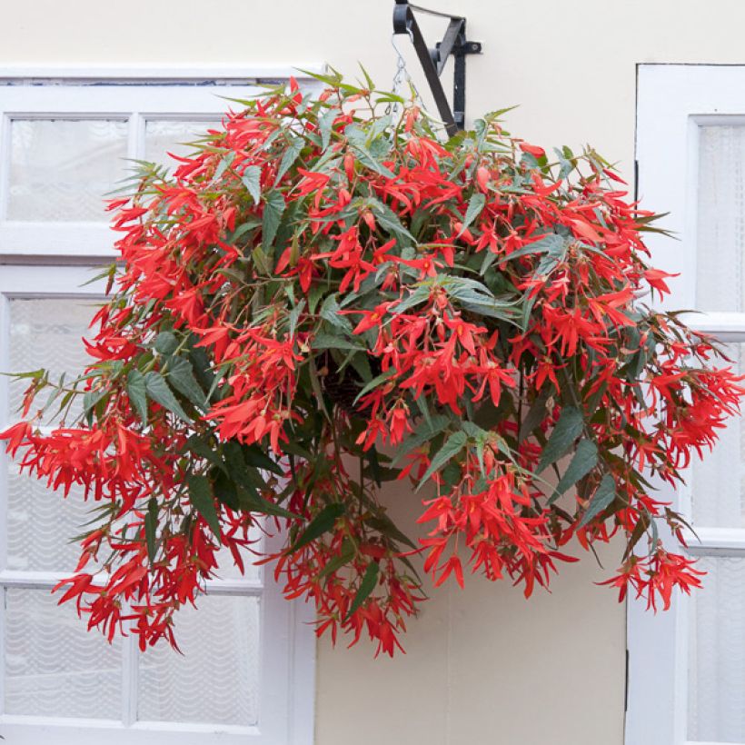
{"label": "top-left glass pane of the left window", "polygon": [[8,220],[106,221],[104,195],[126,175],[127,123],[15,119]]}

